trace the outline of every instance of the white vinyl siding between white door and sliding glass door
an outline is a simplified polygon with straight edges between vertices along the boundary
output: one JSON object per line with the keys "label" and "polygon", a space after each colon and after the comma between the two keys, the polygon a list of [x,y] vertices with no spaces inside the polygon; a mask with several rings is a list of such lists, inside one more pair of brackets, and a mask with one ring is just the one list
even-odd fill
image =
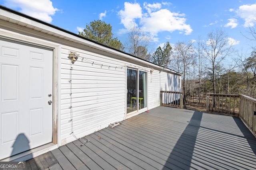
{"label": "white vinyl siding between white door and sliding glass door", "polygon": [[[72,132],[69,122],[70,88],[72,88],[73,132],[77,138],[108,127],[115,121],[122,121],[125,117],[124,64],[86,51],[79,51],[79,54],[78,61],[70,65],[68,49],[62,49],[61,139],[64,140],[63,144],[74,140],[70,135]],[[70,66],[73,68],[72,84],[68,82]]]}

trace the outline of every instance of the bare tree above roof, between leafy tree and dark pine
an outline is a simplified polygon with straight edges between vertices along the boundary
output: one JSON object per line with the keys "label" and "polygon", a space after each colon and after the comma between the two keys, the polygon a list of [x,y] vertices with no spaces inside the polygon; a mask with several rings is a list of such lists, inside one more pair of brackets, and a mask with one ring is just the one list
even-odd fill
{"label": "bare tree above roof, between leafy tree and dark pine", "polygon": [[150,33],[142,31],[141,27],[132,25],[130,30],[128,30],[128,41],[125,43],[126,51],[141,59],[149,60],[148,49],[150,42]]}

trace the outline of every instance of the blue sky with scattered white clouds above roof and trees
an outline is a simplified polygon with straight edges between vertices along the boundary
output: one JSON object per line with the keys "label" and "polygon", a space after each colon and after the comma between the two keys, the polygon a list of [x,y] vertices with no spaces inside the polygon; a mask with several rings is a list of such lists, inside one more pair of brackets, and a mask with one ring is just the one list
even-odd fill
{"label": "blue sky with scattered white clouds above roof and trees", "polygon": [[[0,4],[68,31],[78,33],[86,24],[102,20],[112,26],[124,44],[126,31],[135,24],[149,31],[154,51],[167,41],[197,40],[216,28],[226,31],[235,48],[248,53],[249,27],[256,24],[255,0],[0,0]],[[248,35],[249,36],[249,35]]]}

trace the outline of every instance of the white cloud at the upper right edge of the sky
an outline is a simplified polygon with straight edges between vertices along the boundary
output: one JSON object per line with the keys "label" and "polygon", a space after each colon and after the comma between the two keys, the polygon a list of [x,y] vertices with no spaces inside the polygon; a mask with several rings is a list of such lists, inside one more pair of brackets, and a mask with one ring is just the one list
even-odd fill
{"label": "white cloud at the upper right edge of the sky", "polygon": [[253,27],[256,24],[256,4],[242,5],[235,12],[244,19],[244,27]]}

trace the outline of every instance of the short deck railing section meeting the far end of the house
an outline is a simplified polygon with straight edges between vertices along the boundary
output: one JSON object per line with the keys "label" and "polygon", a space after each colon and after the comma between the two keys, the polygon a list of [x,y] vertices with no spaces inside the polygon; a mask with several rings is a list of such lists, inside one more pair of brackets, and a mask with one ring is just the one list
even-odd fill
{"label": "short deck railing section meeting the far end of the house", "polygon": [[183,96],[181,92],[161,91],[160,98],[162,106],[182,108]]}

